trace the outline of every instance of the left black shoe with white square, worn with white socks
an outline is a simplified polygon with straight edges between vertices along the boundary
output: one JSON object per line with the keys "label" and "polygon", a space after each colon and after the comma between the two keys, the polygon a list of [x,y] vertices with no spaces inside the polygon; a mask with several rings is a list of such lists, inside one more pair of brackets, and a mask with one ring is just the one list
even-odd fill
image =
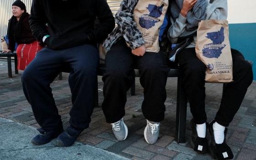
{"label": "left black shoe with white square, worn with white socks", "polygon": [[[208,150],[208,141],[206,139],[206,135],[205,135],[205,138],[198,137],[197,127],[196,127],[196,123],[194,122],[194,119],[190,121],[190,126],[192,129],[192,135],[191,135],[191,141],[190,141],[192,148],[197,153],[206,154]],[[208,123],[206,123],[206,131],[207,131],[207,128],[208,128]]]}

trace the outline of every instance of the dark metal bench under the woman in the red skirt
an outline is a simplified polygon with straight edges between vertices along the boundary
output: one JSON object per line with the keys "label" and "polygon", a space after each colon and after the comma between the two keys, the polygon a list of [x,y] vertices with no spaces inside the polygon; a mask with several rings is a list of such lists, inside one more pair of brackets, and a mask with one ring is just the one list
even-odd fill
{"label": "dark metal bench under the woman in the red skirt", "polygon": [[18,63],[17,54],[16,53],[2,53],[2,51],[0,51],[0,59],[7,59],[8,77],[9,78],[12,78],[11,57],[14,57],[15,74],[19,74],[18,69],[17,69],[17,63]]}

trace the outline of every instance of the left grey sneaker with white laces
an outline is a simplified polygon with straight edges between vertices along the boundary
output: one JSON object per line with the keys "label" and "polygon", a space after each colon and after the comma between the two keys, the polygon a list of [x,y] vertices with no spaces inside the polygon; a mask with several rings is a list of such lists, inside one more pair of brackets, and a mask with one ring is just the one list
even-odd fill
{"label": "left grey sneaker with white laces", "polygon": [[117,121],[116,123],[111,123],[112,124],[112,130],[113,133],[115,134],[117,140],[125,140],[128,135],[128,128],[126,124],[123,122],[123,118]]}

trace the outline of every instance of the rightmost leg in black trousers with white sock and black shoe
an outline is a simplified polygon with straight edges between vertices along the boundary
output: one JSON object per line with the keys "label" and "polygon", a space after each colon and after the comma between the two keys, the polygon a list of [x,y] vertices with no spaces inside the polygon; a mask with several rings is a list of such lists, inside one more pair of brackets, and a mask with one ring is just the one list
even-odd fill
{"label": "rightmost leg in black trousers with white sock and black shoe", "polygon": [[225,142],[225,135],[228,131],[226,127],[233,120],[253,79],[251,64],[245,61],[239,51],[231,49],[231,54],[234,81],[224,87],[219,111],[209,126],[212,136],[210,152],[220,159],[233,159],[234,157],[232,150]]}

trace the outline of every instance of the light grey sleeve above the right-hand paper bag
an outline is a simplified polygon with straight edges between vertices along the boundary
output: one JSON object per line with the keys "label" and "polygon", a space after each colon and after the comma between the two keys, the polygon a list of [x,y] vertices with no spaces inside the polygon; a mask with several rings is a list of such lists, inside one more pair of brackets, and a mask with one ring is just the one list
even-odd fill
{"label": "light grey sleeve above the right-hand paper bag", "polygon": [[227,0],[214,0],[209,3],[206,8],[206,19],[226,20],[228,17],[228,2]]}

